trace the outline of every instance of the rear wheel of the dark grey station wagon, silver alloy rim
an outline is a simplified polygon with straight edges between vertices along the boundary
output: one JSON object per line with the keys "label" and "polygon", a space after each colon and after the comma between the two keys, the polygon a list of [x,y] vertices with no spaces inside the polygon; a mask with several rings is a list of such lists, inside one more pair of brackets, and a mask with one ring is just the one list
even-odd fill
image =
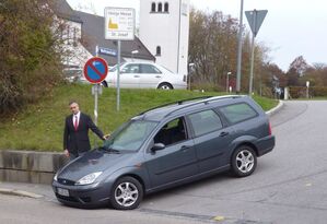
{"label": "rear wheel of the dark grey station wagon, silver alloy rim", "polygon": [[232,172],[237,177],[249,176],[257,167],[255,151],[248,145],[241,145],[232,155]]}

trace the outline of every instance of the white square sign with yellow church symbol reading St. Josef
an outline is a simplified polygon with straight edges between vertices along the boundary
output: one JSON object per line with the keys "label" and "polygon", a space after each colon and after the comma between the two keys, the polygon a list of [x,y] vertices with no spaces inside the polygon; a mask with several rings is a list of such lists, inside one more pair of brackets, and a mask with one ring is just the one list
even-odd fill
{"label": "white square sign with yellow church symbol reading St. Josef", "polygon": [[105,38],[132,40],[136,12],[130,8],[105,8]]}

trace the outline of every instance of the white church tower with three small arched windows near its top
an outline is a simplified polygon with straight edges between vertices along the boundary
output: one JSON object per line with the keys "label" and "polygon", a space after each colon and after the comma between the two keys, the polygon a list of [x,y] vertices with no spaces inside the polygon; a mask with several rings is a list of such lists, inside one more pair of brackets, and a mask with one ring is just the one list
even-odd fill
{"label": "white church tower with three small arched windows near its top", "polygon": [[140,0],[139,34],[156,63],[187,75],[189,0]]}

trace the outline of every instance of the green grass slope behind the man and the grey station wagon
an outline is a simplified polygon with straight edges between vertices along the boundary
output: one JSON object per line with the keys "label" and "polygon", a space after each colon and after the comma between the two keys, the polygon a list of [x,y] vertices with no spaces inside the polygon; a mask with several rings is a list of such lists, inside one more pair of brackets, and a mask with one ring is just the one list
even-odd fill
{"label": "green grass slope behind the man and the grey station wagon", "polygon": [[[109,133],[130,117],[151,107],[178,99],[222,95],[190,91],[121,90],[120,110],[116,111],[116,90],[104,89],[98,98],[98,127]],[[94,96],[91,85],[68,84],[54,90],[42,102],[30,105],[11,118],[2,118],[0,126],[0,150],[62,151],[65,117],[70,115],[68,103],[75,99],[83,113],[93,116]],[[273,99],[255,97],[265,110],[275,107]],[[90,134],[91,144],[101,143]]]}

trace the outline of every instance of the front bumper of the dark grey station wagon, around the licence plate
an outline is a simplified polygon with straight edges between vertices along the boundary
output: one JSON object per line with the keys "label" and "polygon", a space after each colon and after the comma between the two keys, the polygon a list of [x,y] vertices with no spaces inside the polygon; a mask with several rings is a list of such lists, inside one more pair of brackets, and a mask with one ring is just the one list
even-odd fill
{"label": "front bumper of the dark grey station wagon, around the licence plate", "polygon": [[[62,194],[63,189],[68,194]],[[63,204],[79,208],[100,207],[108,204],[110,188],[106,185],[93,184],[86,186],[68,186],[52,181],[52,190],[57,200]]]}

